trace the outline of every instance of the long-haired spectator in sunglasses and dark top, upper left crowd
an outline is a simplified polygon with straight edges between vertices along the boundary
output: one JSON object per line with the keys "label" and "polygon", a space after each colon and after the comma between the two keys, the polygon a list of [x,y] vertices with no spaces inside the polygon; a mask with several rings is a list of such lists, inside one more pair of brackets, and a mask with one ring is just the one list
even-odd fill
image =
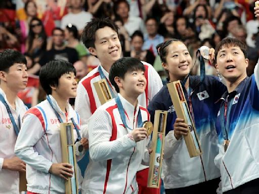
{"label": "long-haired spectator in sunglasses and dark top, upper left crowd", "polygon": [[38,63],[41,56],[46,52],[47,35],[40,19],[32,18],[29,25],[29,35],[26,40],[26,53],[34,63]]}

